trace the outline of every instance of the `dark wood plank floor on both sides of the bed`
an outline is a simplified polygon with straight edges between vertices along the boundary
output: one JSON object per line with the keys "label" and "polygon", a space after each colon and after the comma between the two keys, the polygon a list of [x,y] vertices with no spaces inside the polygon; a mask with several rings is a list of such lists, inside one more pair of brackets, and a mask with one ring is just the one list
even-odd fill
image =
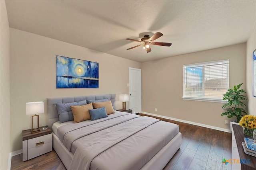
{"label": "dark wood plank floor on both sides of the bed", "polygon": [[[181,147],[164,170],[231,170],[230,164],[222,164],[223,158],[231,159],[231,133],[162,120],[178,124],[182,133]],[[22,162],[22,154],[12,157],[11,170],[65,169],[54,150],[26,162]]]}

